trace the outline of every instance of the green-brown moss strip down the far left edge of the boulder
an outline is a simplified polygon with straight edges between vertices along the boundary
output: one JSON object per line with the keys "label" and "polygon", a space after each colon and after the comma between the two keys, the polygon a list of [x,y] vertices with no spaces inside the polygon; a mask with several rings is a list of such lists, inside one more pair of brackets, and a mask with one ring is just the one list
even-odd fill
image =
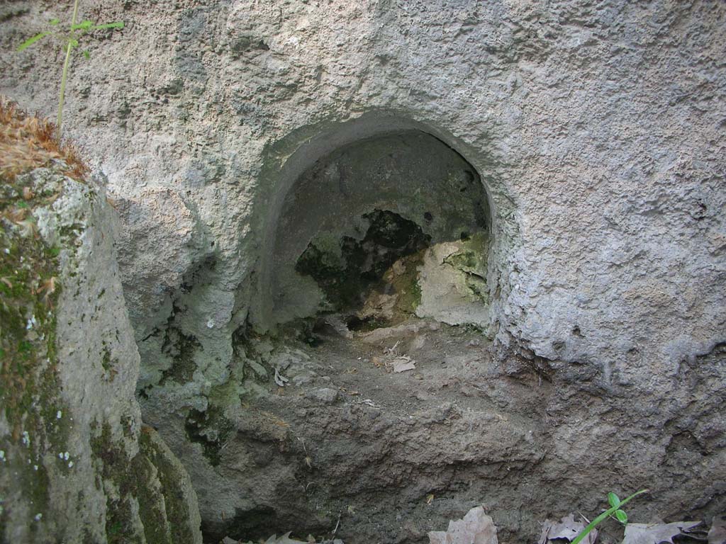
{"label": "green-brown moss strip down the far left edge of the boulder", "polygon": [[[10,432],[0,437],[7,452],[8,474],[33,505],[30,516],[48,519],[49,471],[43,459],[65,451],[68,419],[60,401],[57,373],[56,316],[60,295],[58,252],[38,236],[32,210],[48,205],[49,195],[25,200],[22,182],[6,183],[0,197],[0,406]],[[40,527],[27,521],[33,530]],[[4,522],[1,526],[6,525]],[[40,529],[38,529],[40,530]]]}

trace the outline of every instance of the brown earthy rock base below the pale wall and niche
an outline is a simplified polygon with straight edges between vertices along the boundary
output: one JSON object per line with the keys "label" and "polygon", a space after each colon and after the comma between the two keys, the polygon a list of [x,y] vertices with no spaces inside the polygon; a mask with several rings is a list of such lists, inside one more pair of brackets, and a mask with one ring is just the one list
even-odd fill
{"label": "brown earthy rock base below the pale wall and niche", "polygon": [[[216,470],[249,506],[205,522],[210,543],[291,530],[423,544],[478,505],[500,543],[534,542],[547,517],[596,515],[609,490],[642,487],[653,491],[629,509],[638,522],[708,521],[726,506],[720,401],[704,389],[719,387],[722,350],[696,361],[687,392],[674,388],[672,403],[691,399],[674,416],[584,367],[495,364],[481,331],[435,321],[349,332],[329,318],[243,348],[250,394],[227,411]],[[693,426],[696,414],[715,434]],[[601,541],[620,536],[606,525]]]}

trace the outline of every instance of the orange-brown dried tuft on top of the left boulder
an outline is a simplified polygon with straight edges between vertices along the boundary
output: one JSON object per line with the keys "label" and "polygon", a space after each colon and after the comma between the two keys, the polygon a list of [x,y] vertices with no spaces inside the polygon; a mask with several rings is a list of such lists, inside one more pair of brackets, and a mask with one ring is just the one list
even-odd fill
{"label": "orange-brown dried tuft on top of the left boulder", "polygon": [[28,115],[0,96],[0,178],[12,181],[18,174],[58,159],[68,165],[65,175],[86,181],[89,168],[73,144],[60,140],[54,123]]}

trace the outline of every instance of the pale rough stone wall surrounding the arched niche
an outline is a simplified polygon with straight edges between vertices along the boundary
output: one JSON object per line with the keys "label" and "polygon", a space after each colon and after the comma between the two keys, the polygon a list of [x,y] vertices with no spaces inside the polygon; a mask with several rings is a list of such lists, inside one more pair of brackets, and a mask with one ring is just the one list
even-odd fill
{"label": "pale rough stone wall surrounding the arched niche", "polygon": [[[228,342],[288,157],[306,145],[314,161],[404,119],[484,181],[502,342],[613,375],[644,366],[664,383],[722,340],[719,2],[84,9],[127,28],[92,39],[91,61],[76,62],[68,134],[92,146],[112,197],[164,202],[143,243],[121,248],[126,284],[166,300],[132,301],[139,339],[165,326],[181,277],[201,268],[205,309],[184,326],[205,345]],[[1,91],[50,113],[52,44],[10,51],[68,14],[23,1],[3,10]],[[366,115],[364,131],[346,133]],[[129,228],[151,213],[126,215]],[[152,251],[168,270],[139,285],[147,265],[131,255]],[[229,354],[206,350],[197,366],[224,379]]]}

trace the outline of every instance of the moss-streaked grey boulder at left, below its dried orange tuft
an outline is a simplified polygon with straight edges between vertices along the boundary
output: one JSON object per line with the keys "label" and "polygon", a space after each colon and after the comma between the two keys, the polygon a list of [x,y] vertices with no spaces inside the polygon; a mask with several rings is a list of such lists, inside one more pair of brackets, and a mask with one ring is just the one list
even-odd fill
{"label": "moss-streaked grey boulder at left, below its dried orange tuft", "polygon": [[0,541],[200,543],[189,477],[142,429],[110,207],[63,170],[0,184]]}

